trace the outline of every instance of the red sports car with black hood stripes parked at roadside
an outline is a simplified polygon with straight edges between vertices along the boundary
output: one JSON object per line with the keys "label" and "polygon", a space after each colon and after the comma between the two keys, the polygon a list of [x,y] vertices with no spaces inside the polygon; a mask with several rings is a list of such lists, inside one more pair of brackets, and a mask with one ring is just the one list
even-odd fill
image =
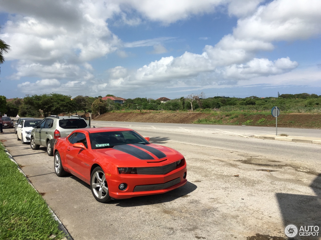
{"label": "red sports car with black hood stripes parked at roadside", "polygon": [[57,176],[72,173],[101,203],[165,193],[187,182],[182,154],[128,128],[77,129],[56,140],[54,156]]}

